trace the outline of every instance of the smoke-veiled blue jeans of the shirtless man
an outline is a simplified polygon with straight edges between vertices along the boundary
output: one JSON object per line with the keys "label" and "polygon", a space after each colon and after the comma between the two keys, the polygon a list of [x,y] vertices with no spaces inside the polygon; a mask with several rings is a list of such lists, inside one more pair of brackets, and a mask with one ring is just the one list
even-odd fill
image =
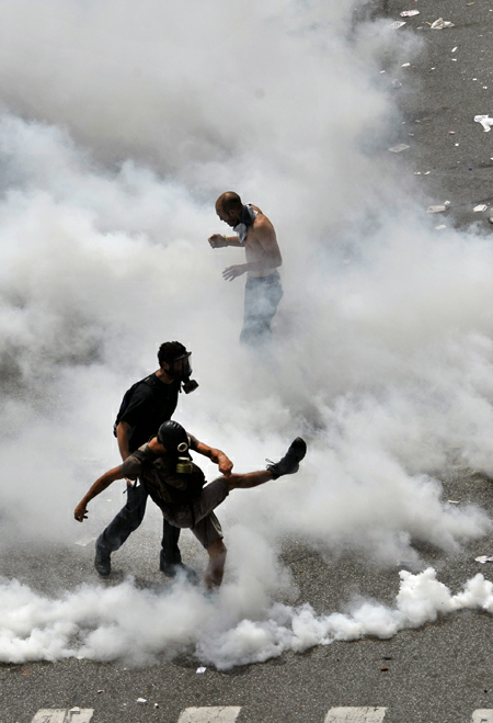
{"label": "smoke-veiled blue jeans of the shirtless man", "polygon": [[260,344],[271,335],[271,321],[283,298],[283,286],[277,271],[268,276],[249,276],[244,287],[244,316],[240,341]]}

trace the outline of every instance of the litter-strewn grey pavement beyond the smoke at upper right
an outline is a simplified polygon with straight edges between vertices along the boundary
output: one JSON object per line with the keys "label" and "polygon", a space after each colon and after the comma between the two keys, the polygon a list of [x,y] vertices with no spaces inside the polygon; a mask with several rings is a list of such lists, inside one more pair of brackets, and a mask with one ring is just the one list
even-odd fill
{"label": "litter-strewn grey pavement beyond the smoke at upper right", "polygon": [[[420,15],[400,18],[401,11],[411,9],[420,10]],[[405,122],[398,121],[391,128],[389,146],[410,146],[394,162],[405,166],[410,174],[421,172],[416,180],[423,205],[451,202],[444,223],[457,227],[478,223],[493,230],[488,224],[491,213],[472,211],[478,204],[489,208],[493,204],[493,135],[473,120],[493,114],[493,3],[388,0],[385,11],[392,21],[406,22],[392,32],[412,29],[423,41],[416,57],[392,56],[391,64],[382,63],[381,82],[402,83],[393,92]],[[454,22],[455,27],[431,30],[428,23],[438,18]],[[402,68],[408,61],[411,65]]]}

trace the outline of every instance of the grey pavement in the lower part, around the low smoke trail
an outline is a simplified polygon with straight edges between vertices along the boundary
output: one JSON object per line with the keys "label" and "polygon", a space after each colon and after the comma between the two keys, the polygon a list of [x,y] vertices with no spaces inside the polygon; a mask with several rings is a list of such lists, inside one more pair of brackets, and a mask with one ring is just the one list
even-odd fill
{"label": "grey pavement in the lower part, around the low smoke trail", "polygon": [[[444,499],[459,500],[461,506],[474,502],[490,515],[492,492],[491,481],[472,471],[455,467],[444,477]],[[133,535],[115,557],[115,578],[105,585],[136,572],[141,587],[167,585],[157,571],[159,535],[153,532]],[[424,564],[434,566],[454,592],[477,573],[488,575],[489,568],[474,557],[493,552],[489,540],[477,541],[455,556],[417,542],[416,546]],[[319,612],[344,610],[355,590],[388,603],[398,591],[398,568],[382,569],[355,555],[324,560],[293,541],[286,543],[283,558],[299,586],[299,599],[309,600]],[[37,557],[18,552],[3,557],[1,573],[10,577],[22,569],[21,580],[47,591],[53,589],[44,573],[49,561],[60,585],[96,579],[92,546],[51,550],[49,555],[44,551]],[[489,614],[466,611],[390,640],[334,642],[227,673],[208,667],[197,675],[199,660],[193,647],[171,660],[164,655],[162,663],[138,668],[77,659],[2,665],[0,721],[28,723],[39,709],[78,705],[94,709],[94,723],[175,723],[185,708],[239,705],[239,723],[322,723],[330,708],[368,705],[386,707],[387,723],[467,722],[474,710],[493,709],[492,636]],[[146,698],[147,705],[138,704],[138,698]]]}

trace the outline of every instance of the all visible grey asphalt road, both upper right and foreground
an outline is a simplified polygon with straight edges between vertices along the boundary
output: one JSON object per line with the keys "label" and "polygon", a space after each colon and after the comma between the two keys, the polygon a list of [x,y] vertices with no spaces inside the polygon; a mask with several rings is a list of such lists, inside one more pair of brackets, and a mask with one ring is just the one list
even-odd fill
{"label": "all visible grey asphalt road, both upper right and foreground", "polygon": [[[412,8],[421,14],[409,19],[404,32],[416,29],[422,50],[405,68],[400,67],[405,58],[398,69],[394,58],[385,58],[386,74],[379,80],[402,83],[394,90],[402,117],[390,128],[388,146],[405,143],[410,148],[390,162],[403,165],[410,177],[421,172],[416,194],[423,213],[428,204],[449,200],[440,223],[479,223],[493,233],[489,213],[472,211],[479,203],[493,203],[493,133],[473,121],[475,114],[493,115],[493,1],[388,0],[376,11],[390,23]],[[439,16],[456,27],[431,31],[426,22]],[[493,516],[492,483],[472,471],[455,467],[444,474],[444,498],[479,504]],[[161,585],[156,540],[156,530],[136,533],[131,545],[121,551],[107,585],[136,571],[142,587]],[[420,553],[438,578],[458,591],[478,572],[488,574],[474,557],[493,553],[490,545],[482,540],[454,557],[432,547],[420,546]],[[2,555],[0,573],[39,590],[53,589],[55,581],[70,589],[91,579],[92,554],[92,546],[54,547],[37,555],[16,550]],[[383,602],[391,602],[398,591],[397,568],[372,567],[355,556],[328,561],[296,541],[286,543],[283,554],[300,599],[319,612],[343,609],[356,581],[363,596]],[[241,707],[239,723],[322,723],[330,708],[346,705],[386,707],[386,723],[467,722],[474,710],[493,709],[492,635],[490,615],[461,612],[391,640],[335,642],[229,673],[208,668],[197,675],[192,649],[135,669],[77,659],[1,665],[0,723],[30,723],[39,709],[74,705],[94,709],[93,723],[175,723],[183,709],[207,705]],[[147,705],[136,702],[140,697],[148,699]]]}

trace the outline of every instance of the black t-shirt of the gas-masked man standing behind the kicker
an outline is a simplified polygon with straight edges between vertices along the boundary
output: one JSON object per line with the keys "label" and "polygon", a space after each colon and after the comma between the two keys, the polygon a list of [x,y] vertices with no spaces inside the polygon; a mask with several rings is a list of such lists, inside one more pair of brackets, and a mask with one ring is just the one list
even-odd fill
{"label": "black t-shirt of the gas-masked man standing behind the kicker", "polygon": [[180,382],[164,384],[156,373],[139,384],[119,421],[126,421],[131,429],[128,432],[128,449],[135,452],[139,447],[157,434],[164,421],[173,416],[177,405]]}

